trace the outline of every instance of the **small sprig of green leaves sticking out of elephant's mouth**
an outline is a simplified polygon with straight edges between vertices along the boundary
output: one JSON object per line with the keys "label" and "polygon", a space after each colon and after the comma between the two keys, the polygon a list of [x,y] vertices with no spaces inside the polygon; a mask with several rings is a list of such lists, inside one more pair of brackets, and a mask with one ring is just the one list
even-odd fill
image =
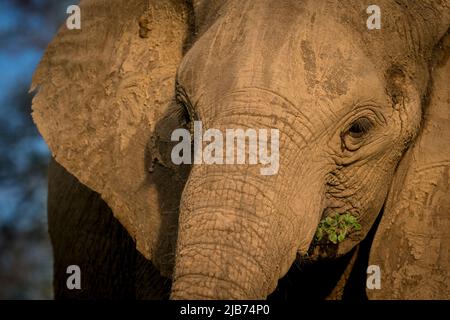
{"label": "small sprig of green leaves sticking out of elephant's mouth", "polygon": [[334,214],[322,219],[317,227],[315,239],[321,241],[328,240],[338,244],[345,240],[352,231],[361,230],[361,225],[355,216],[350,213]]}

